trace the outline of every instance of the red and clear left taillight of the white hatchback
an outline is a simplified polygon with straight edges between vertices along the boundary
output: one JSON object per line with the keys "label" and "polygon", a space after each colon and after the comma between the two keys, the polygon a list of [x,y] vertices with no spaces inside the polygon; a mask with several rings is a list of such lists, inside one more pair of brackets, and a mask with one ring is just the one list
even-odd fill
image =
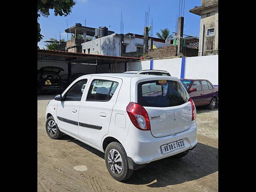
{"label": "red and clear left taillight of the white hatchback", "polygon": [[150,130],[150,121],[145,108],[138,103],[130,102],[126,107],[126,111],[132,121],[132,124],[140,130]]}

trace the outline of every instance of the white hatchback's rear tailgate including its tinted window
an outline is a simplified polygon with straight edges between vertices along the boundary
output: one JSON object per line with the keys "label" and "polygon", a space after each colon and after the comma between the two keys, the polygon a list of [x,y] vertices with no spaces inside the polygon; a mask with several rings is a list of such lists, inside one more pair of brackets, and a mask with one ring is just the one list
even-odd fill
{"label": "white hatchback's rear tailgate including its tinted window", "polygon": [[178,81],[152,80],[138,84],[138,104],[148,113],[154,137],[168,136],[190,128],[192,107],[188,98]]}

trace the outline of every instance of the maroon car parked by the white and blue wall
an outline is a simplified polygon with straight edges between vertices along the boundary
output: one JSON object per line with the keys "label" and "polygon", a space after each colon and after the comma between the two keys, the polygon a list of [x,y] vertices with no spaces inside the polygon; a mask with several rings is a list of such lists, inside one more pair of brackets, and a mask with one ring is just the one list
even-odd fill
{"label": "maroon car parked by the white and blue wall", "polygon": [[218,105],[218,87],[205,79],[180,79],[196,106],[207,105],[215,109]]}

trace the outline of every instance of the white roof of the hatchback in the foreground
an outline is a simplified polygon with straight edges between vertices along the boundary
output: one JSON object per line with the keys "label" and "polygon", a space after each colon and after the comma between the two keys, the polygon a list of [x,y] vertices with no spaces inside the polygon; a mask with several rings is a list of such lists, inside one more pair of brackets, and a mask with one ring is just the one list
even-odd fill
{"label": "white roof of the hatchback in the foreground", "polygon": [[88,74],[81,77],[86,76],[104,76],[104,77],[115,77],[115,78],[137,78],[140,79],[150,79],[150,78],[156,78],[156,79],[166,79],[166,80],[179,80],[177,77],[172,76],[156,76],[156,75],[143,75],[143,74],[126,74],[126,73],[102,73],[102,74]]}

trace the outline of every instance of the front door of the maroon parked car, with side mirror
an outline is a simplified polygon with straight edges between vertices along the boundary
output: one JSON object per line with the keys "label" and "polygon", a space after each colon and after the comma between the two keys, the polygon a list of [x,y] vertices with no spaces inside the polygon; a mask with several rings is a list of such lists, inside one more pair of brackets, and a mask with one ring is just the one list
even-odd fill
{"label": "front door of the maroon parked car, with side mirror", "polygon": [[196,106],[200,106],[204,104],[204,93],[202,91],[202,86],[200,81],[194,81],[190,87],[191,88],[196,88],[196,91],[191,92],[189,96],[192,98],[194,101],[194,104]]}

